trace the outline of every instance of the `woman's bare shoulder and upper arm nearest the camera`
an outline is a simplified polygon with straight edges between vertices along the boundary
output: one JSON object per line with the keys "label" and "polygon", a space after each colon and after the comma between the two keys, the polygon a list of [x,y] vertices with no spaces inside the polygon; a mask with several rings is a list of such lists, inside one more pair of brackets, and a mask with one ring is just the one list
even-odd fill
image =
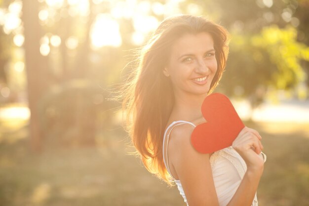
{"label": "woman's bare shoulder and upper arm nearest the camera", "polygon": [[192,131],[191,125],[180,125],[171,132],[172,166],[181,180],[189,206],[219,206],[210,155],[199,153],[193,148],[190,140]]}

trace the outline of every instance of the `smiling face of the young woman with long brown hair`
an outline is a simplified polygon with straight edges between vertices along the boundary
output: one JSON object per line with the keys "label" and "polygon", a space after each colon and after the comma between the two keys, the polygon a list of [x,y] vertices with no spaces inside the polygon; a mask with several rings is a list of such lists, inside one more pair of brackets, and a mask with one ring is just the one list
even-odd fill
{"label": "smiling face of the young woman with long brown hair", "polygon": [[186,34],[175,41],[163,73],[175,92],[205,94],[217,71],[214,42],[210,34]]}

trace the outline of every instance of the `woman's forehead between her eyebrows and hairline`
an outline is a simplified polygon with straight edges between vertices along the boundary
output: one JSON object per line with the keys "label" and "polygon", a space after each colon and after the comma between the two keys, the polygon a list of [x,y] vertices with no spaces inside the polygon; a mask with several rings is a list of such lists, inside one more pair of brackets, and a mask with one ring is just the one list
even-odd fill
{"label": "woman's forehead between her eyebrows and hairline", "polygon": [[214,41],[209,33],[185,34],[174,42],[171,48],[171,55],[198,54],[213,48]]}

